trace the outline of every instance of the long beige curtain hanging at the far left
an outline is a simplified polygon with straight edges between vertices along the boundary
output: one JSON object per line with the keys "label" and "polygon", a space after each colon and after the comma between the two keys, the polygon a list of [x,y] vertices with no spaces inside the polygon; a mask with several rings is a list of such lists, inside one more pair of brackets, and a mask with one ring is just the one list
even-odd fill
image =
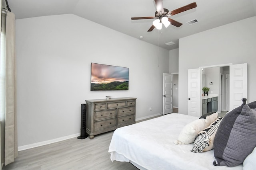
{"label": "long beige curtain hanging at the far left", "polygon": [[[5,72],[5,147],[4,164],[14,162],[18,156],[17,119],[16,119],[16,51],[15,15],[6,14],[6,72]],[[2,119],[1,119],[2,121]],[[2,142],[2,141],[1,141]]]}

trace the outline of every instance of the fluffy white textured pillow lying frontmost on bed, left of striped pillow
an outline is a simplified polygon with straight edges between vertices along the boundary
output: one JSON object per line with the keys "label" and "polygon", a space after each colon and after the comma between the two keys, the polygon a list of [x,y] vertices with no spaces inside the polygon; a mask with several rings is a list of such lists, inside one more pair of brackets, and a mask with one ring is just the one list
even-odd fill
{"label": "fluffy white textured pillow lying frontmost on bed, left of striped pillow", "polygon": [[178,139],[174,141],[174,144],[186,145],[193,143],[196,135],[204,129],[204,120],[196,119],[184,126]]}

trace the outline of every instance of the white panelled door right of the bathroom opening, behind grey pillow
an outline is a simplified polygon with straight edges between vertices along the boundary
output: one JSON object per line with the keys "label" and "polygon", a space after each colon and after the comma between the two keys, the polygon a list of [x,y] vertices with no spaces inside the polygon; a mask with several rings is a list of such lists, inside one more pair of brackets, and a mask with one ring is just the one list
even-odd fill
{"label": "white panelled door right of the bathroom opening, behind grey pillow", "polygon": [[242,98],[247,99],[247,63],[229,67],[230,74],[230,110],[241,106]]}

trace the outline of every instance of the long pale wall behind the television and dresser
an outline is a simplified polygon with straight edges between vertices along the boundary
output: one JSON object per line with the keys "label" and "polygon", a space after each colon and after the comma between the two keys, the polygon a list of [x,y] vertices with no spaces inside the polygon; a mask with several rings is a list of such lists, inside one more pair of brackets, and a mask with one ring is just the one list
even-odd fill
{"label": "long pale wall behind the television and dresser", "polygon": [[[16,55],[18,147],[79,135],[84,100],[135,97],[136,120],[162,113],[165,49],[67,14],[16,20]],[[90,63],[128,67],[129,90],[90,91]]]}

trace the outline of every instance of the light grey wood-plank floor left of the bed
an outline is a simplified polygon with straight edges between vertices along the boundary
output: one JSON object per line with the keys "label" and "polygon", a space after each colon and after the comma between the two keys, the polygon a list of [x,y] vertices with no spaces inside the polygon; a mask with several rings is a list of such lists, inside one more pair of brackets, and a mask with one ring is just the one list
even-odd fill
{"label": "light grey wood-plank floor left of the bed", "polygon": [[111,162],[108,147],[113,132],[22,150],[3,170],[138,170],[129,162]]}

